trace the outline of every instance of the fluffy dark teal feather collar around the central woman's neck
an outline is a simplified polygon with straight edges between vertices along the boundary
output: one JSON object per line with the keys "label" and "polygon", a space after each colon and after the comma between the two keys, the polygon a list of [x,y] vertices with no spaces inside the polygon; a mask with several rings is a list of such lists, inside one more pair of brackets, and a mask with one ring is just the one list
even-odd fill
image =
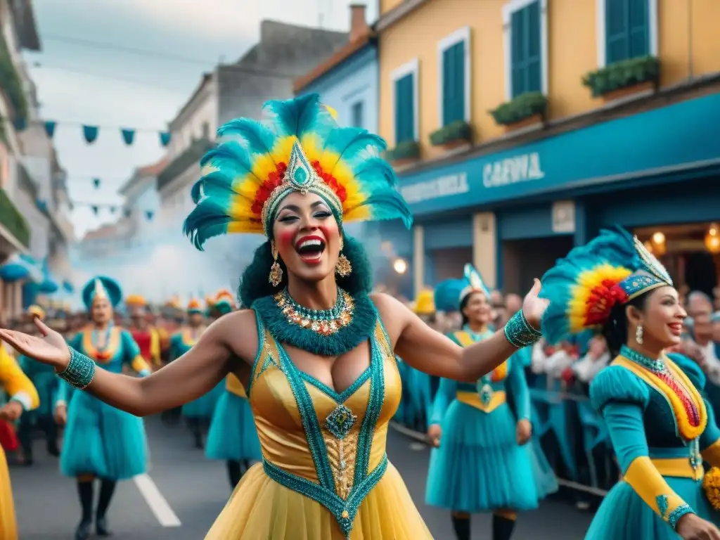
{"label": "fluffy dark teal feather collar around the central woman's neck", "polygon": [[[341,291],[338,293],[342,294]],[[252,307],[261,315],[266,328],[279,343],[287,343],[320,356],[340,356],[368,341],[377,323],[377,311],[366,294],[354,296],[353,301],[351,322],[329,336],[290,323],[272,296],[258,298]]]}

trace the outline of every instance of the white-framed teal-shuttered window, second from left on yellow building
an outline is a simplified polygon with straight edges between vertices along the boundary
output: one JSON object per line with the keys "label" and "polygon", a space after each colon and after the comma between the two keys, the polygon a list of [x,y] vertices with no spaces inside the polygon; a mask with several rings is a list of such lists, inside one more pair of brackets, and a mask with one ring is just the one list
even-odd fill
{"label": "white-framed teal-shuttered window, second from left on yellow building", "polygon": [[438,43],[440,121],[446,126],[470,121],[470,29],[462,28]]}

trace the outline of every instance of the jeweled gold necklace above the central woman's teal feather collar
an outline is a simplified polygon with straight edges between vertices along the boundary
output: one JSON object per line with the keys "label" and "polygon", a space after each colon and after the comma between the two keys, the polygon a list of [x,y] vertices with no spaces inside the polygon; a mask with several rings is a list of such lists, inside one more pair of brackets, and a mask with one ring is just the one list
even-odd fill
{"label": "jeweled gold necklace above the central woman's teal feather collar", "polygon": [[343,289],[338,289],[338,300],[329,310],[311,310],[303,307],[292,300],[287,289],[275,294],[273,298],[288,323],[312,330],[322,336],[336,333],[353,320],[355,302]]}

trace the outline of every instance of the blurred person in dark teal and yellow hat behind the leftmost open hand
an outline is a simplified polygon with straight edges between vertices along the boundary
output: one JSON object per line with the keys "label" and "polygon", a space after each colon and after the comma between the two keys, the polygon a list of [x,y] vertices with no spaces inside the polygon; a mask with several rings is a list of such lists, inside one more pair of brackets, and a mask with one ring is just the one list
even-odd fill
{"label": "blurred person in dark teal and yellow hat behind the leftmost open hand", "polygon": [[[31,305],[27,308],[27,315],[31,319],[37,317],[45,319],[45,311],[42,307]],[[40,406],[35,410],[28,410],[20,417],[20,425],[17,430],[17,438],[22,446],[23,463],[32,465],[32,435],[36,428],[42,429],[45,433],[45,444],[50,456],[59,456],[58,449],[58,425],[53,418],[53,407],[58,392],[58,377],[56,377],[53,366],[40,364],[27,356],[19,356],[17,363],[30,379],[37,395],[40,397]]]}

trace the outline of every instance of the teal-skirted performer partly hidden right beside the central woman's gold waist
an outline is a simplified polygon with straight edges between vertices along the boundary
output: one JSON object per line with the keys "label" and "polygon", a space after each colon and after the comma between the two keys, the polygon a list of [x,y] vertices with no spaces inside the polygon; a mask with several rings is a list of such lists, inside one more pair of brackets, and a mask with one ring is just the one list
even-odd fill
{"label": "teal-skirted performer partly hidden right beside the central woman's gold waist", "polygon": [[[214,307],[222,317],[235,310],[235,300],[228,292],[222,291],[217,295]],[[251,462],[259,462],[262,454],[245,387],[231,373],[225,377],[224,388],[212,415],[205,455],[208,459],[225,461],[230,487],[235,489]]]}

